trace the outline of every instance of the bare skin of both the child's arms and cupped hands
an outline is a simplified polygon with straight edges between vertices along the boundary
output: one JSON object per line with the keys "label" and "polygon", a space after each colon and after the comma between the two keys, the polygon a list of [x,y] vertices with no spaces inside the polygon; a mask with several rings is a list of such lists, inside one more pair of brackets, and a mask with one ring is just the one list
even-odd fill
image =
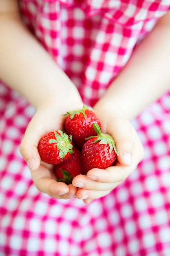
{"label": "bare skin of both the child's arms and cupped hands", "polygon": [[62,114],[82,108],[79,92],[24,27],[17,0],[0,0],[0,38],[0,79],[37,110],[20,145],[35,186],[53,198],[77,197],[86,204],[110,193],[144,156],[130,120],[169,89],[170,12],[160,18],[150,35],[136,47],[124,69],[93,107],[102,132],[110,134],[116,142],[117,164],[106,170],[94,168],[87,176],[78,175],[69,186],[55,181],[52,166],[40,161],[37,146],[46,132],[63,128]]}

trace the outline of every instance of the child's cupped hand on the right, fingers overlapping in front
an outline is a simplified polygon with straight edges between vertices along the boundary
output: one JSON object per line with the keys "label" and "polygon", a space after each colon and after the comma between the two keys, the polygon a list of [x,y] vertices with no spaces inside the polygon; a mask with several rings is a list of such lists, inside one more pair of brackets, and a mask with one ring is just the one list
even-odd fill
{"label": "child's cupped hand on the right, fingers overlapping in front", "polygon": [[77,198],[84,199],[85,203],[110,193],[135,170],[144,156],[141,141],[128,120],[112,111],[107,113],[95,107],[94,110],[99,117],[102,132],[110,134],[115,140],[119,156],[115,166],[105,170],[93,168],[86,176],[78,175],[73,179],[73,186],[79,188]]}

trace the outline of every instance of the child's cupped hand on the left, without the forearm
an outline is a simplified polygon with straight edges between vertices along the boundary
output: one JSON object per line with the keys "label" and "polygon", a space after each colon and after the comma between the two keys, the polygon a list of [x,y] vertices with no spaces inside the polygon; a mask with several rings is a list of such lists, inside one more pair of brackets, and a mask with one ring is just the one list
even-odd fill
{"label": "child's cupped hand on the left, without the forearm", "polygon": [[52,171],[53,166],[41,161],[37,146],[40,138],[46,132],[63,130],[65,117],[62,115],[66,111],[82,108],[83,104],[78,100],[77,103],[70,104],[70,101],[68,101],[65,104],[60,102],[60,106],[58,105],[59,102],[57,104],[46,102],[38,108],[26,129],[20,145],[20,153],[31,170],[35,186],[53,198],[66,199],[74,197],[77,188],[73,187],[72,184],[67,186],[63,182],[56,181]]}

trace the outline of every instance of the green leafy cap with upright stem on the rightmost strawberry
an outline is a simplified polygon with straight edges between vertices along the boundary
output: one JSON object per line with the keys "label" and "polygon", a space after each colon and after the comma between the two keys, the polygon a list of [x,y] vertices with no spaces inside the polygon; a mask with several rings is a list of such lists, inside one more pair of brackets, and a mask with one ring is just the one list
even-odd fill
{"label": "green leafy cap with upright stem on the rightmost strawberry", "polygon": [[97,133],[97,136],[90,136],[87,139],[97,137],[97,139],[95,139],[95,141],[93,143],[99,142],[99,144],[108,144],[109,145],[109,152],[111,152],[114,149],[115,153],[117,155],[119,155],[119,152],[116,148],[114,139],[110,135],[102,133],[101,130],[100,130],[100,127],[98,126],[97,123],[93,124],[93,128],[94,128],[95,132]]}

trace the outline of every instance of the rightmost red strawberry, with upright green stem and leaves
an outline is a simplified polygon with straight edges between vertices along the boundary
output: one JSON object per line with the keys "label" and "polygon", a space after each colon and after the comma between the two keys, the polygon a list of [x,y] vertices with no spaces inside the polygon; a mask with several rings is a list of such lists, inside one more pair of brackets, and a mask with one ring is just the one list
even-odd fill
{"label": "rightmost red strawberry, with upright green stem and leaves", "polygon": [[82,165],[85,175],[92,168],[106,169],[112,166],[118,155],[113,138],[102,133],[97,124],[93,124],[93,127],[98,135],[89,137],[82,148]]}

